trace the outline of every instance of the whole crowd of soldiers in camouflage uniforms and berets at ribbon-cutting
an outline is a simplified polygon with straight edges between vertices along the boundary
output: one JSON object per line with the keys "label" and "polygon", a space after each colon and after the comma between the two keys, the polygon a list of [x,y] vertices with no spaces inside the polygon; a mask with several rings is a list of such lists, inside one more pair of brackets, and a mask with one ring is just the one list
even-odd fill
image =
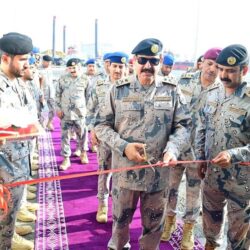
{"label": "whole crowd of soldiers in camouflage uniforms and berets at ribbon-cutting", "polygon": [[[159,249],[177,228],[177,200],[186,176],[186,211],[181,249],[194,249],[194,227],[202,214],[205,249],[250,247],[250,85],[244,80],[249,55],[240,44],[210,48],[196,68],[180,78],[172,74],[174,57],[162,55],[155,38],[140,41],[132,50],[110,52],[103,70],[96,61],[71,58],[56,81],[52,58],[42,64],[32,54],[32,40],[19,33],[0,39],[0,108],[21,112],[29,107],[41,125],[54,130],[60,118],[62,171],[71,167],[73,153],[82,164],[97,152],[99,170],[138,164],[154,166],[98,176],[96,220],[108,220],[112,193],[112,237],[108,249],[130,249],[129,225],[140,201],[140,249]],[[37,140],[0,141],[2,183],[27,180],[37,160]],[[180,161],[177,164],[177,160]],[[197,163],[195,160],[199,160]],[[181,163],[181,161],[184,162]],[[185,163],[188,161],[188,163]],[[32,164],[33,163],[33,164]],[[155,165],[156,164],[156,165]],[[31,187],[11,189],[8,213],[0,221],[1,249],[33,249],[18,236],[18,211]],[[35,187],[33,187],[33,190]],[[26,191],[25,191],[26,190]],[[29,204],[25,209],[28,210]],[[37,207],[32,207],[33,211]],[[227,213],[226,213],[227,211]],[[25,215],[26,216],[26,215]],[[25,217],[24,216],[24,217]]]}

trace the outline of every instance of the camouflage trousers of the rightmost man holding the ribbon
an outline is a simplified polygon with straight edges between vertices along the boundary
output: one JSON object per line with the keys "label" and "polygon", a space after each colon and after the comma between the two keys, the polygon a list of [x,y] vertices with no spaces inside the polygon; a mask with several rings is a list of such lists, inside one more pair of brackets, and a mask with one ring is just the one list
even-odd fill
{"label": "camouflage trousers of the rightmost man holding the ribbon", "polygon": [[[234,199],[233,197],[236,197]],[[228,233],[227,250],[250,249],[250,200],[240,198],[237,190],[221,192],[218,187],[203,184],[203,230],[206,241],[212,246],[220,246],[225,242],[224,224],[227,205]]]}

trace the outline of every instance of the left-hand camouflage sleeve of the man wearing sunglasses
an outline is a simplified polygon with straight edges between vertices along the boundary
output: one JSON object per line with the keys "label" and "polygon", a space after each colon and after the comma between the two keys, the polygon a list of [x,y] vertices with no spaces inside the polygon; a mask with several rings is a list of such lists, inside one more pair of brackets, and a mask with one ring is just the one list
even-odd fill
{"label": "left-hand camouflage sleeve of the man wearing sunglasses", "polygon": [[116,87],[113,86],[106,95],[105,105],[100,107],[95,122],[95,132],[97,138],[108,144],[113,150],[123,156],[128,144],[115,130],[115,96]]}

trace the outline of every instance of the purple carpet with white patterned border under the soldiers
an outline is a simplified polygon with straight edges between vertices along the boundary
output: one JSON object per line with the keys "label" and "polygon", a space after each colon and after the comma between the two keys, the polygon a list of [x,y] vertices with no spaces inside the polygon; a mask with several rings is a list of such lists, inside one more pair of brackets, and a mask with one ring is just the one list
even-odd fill
{"label": "purple carpet with white patterned border under the soldiers", "polygon": [[[89,164],[82,165],[78,157],[72,156],[71,167],[67,171],[58,171],[57,166],[59,166],[63,160],[60,156],[59,120],[55,119],[54,124],[55,131],[52,133],[53,145],[50,145],[51,139],[48,136],[49,133],[45,136],[46,138],[40,139],[40,143],[45,144],[45,146],[41,146],[40,153],[43,158],[41,164],[46,165],[46,167],[42,167],[43,170],[39,171],[39,174],[42,174],[40,177],[53,174],[58,175],[58,172],[59,175],[63,176],[96,171],[96,154],[90,152],[88,152]],[[76,149],[76,143],[74,141],[71,143],[71,148],[72,152],[74,152]],[[48,155],[48,151],[51,158]],[[108,223],[97,223],[95,219],[97,209],[97,176],[62,180],[61,182],[44,185],[49,185],[50,189],[46,190],[42,184],[39,186],[39,202],[43,202],[45,205],[40,209],[38,214],[39,223],[36,231],[36,249],[107,249],[106,246],[111,237],[112,227],[111,198],[109,202]],[[49,209],[47,206],[49,206]],[[130,227],[132,250],[139,249],[138,238],[140,234],[140,214],[139,209],[137,209]],[[161,243],[160,249],[180,249],[181,238],[182,227],[179,226],[169,242]],[[201,250],[204,248],[196,241],[194,249]]]}

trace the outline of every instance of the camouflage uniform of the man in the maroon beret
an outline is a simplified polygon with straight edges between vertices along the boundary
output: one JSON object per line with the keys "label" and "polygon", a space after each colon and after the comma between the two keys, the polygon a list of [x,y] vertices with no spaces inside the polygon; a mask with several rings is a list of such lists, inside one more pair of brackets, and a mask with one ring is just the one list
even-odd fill
{"label": "camouflage uniform of the man in the maroon beret", "polygon": [[[186,98],[187,106],[192,118],[191,127],[191,145],[180,155],[180,160],[194,160],[193,143],[195,137],[195,129],[198,121],[198,111],[206,100],[208,89],[218,86],[219,81],[215,81],[206,89],[202,89],[200,76],[201,72],[185,73],[179,80],[179,87]],[[186,170],[186,171],[185,171]],[[184,221],[186,223],[194,223],[197,221],[201,200],[200,200],[200,184],[201,180],[198,176],[196,164],[181,164],[170,169],[170,183],[169,183],[169,200],[167,203],[167,215],[176,215],[176,206],[178,200],[178,189],[183,177],[186,174],[186,212]]]}

